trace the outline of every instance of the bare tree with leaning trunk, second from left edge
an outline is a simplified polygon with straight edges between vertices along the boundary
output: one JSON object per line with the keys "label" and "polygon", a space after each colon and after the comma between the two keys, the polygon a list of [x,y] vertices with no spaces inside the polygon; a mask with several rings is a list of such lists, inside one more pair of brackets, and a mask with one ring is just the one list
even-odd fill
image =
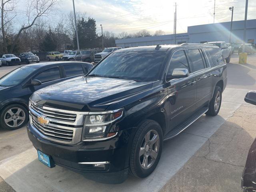
{"label": "bare tree with leaning trunk, second from left edge", "polygon": [[21,24],[21,28],[16,34],[10,52],[12,53],[14,47],[17,44],[18,38],[20,37],[21,33],[32,27],[36,20],[40,17],[48,16],[53,11],[56,11],[55,7],[58,4],[59,0],[28,0],[27,1],[27,10],[26,10],[26,18],[27,21]]}

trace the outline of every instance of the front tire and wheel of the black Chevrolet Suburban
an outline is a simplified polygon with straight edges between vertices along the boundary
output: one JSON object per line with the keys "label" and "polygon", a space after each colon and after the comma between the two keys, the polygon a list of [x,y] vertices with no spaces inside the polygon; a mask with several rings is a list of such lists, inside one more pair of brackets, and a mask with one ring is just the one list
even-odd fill
{"label": "front tire and wheel of the black Chevrolet Suburban", "polygon": [[[148,133],[150,136],[150,146],[146,144],[146,135],[148,135]],[[158,137],[156,135],[158,135]],[[153,143],[152,140],[154,137],[156,138],[156,140],[154,140],[155,142]],[[132,141],[129,162],[129,173],[132,176],[138,178],[145,178],[149,176],[154,171],[159,162],[162,152],[162,146],[163,133],[161,126],[154,120],[145,120],[142,123],[140,123],[138,126],[138,130]],[[152,151],[154,151],[154,153]],[[148,157],[145,157],[145,155]],[[152,158],[151,155],[154,155],[155,158]],[[146,159],[148,166],[144,164],[144,160]],[[148,160],[150,161],[148,162]]]}

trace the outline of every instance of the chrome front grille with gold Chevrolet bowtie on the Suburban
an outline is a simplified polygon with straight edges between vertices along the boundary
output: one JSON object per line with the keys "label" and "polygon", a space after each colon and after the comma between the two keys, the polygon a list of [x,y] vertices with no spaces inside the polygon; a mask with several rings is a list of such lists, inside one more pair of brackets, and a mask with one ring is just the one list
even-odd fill
{"label": "chrome front grille with gold Chevrolet bowtie on the Suburban", "polygon": [[81,141],[84,115],[88,112],[60,110],[30,102],[30,124],[42,138],[66,144]]}

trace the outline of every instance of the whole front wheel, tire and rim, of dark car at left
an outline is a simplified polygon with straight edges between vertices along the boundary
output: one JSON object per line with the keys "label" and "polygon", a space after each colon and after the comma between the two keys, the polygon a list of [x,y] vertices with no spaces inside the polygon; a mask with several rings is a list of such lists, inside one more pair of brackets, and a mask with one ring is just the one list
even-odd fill
{"label": "whole front wheel, tire and rim, of dark car at left", "polygon": [[8,130],[19,129],[24,126],[27,121],[28,110],[20,104],[10,104],[6,106],[0,114],[0,127]]}

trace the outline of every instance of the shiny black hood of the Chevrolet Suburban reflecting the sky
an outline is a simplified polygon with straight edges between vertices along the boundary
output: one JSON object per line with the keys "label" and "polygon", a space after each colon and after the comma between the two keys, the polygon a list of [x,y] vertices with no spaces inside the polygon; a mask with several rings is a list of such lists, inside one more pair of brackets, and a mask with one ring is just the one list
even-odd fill
{"label": "shiny black hood of the Chevrolet Suburban reflecting the sky", "polygon": [[104,111],[111,103],[151,87],[152,82],[80,76],[42,88],[31,99],[64,110]]}

